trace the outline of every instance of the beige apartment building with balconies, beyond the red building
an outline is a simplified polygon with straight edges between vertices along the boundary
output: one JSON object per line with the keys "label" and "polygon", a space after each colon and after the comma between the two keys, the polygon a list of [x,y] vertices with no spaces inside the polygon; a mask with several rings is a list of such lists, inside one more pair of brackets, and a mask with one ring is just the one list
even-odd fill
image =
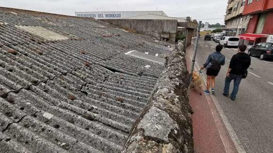
{"label": "beige apartment building with balconies, beyond the red building", "polygon": [[246,0],[228,0],[226,7],[225,24],[227,36],[238,36],[245,32],[248,16],[243,16]]}

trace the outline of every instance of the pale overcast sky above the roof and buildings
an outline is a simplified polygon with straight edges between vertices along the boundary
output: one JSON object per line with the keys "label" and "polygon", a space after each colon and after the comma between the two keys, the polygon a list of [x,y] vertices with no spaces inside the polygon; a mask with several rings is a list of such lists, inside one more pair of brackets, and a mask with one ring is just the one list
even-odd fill
{"label": "pale overcast sky above the roof and buildings", "polygon": [[156,11],[158,8],[168,16],[190,16],[210,24],[224,24],[226,5],[227,0],[0,0],[0,6],[64,15],[75,15],[75,11]]}

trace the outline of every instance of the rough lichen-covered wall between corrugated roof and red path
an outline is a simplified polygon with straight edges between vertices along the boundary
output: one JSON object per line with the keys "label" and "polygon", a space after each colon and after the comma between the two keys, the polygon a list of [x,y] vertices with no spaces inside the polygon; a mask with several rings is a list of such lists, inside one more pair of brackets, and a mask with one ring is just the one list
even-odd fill
{"label": "rough lichen-covered wall between corrugated roof and red path", "polygon": [[182,42],[166,57],[166,66],[148,104],[132,127],[123,153],[193,153],[189,73]]}

